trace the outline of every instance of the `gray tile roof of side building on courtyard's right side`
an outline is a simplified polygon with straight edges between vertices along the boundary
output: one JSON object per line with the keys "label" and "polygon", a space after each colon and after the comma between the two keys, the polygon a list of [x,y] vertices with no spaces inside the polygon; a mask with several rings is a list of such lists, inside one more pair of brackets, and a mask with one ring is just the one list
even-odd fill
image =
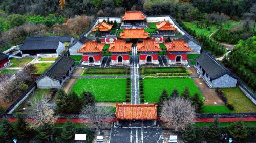
{"label": "gray tile roof of side building on courtyard's right side", "polygon": [[234,77],[229,73],[228,69],[222,66],[214,57],[209,53],[203,53],[195,59],[199,65],[205,70],[212,80],[217,79],[225,74]]}

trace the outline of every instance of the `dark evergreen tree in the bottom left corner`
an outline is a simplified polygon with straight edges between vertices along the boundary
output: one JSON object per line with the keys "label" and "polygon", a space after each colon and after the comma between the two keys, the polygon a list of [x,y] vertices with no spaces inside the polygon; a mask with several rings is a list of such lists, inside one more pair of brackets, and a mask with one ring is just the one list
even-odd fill
{"label": "dark evergreen tree in the bottom left corner", "polygon": [[0,142],[5,142],[6,140],[12,140],[13,138],[13,126],[12,124],[3,119],[0,121]]}

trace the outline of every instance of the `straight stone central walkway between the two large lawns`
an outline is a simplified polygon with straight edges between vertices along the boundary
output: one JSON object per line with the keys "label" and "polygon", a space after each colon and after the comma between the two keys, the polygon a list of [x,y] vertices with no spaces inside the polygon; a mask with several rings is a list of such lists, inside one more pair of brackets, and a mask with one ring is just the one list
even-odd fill
{"label": "straight stone central walkway between the two large lawns", "polygon": [[139,63],[137,56],[137,46],[132,47],[131,57],[131,80],[132,80],[132,97],[131,104],[140,104],[140,93],[139,93]]}

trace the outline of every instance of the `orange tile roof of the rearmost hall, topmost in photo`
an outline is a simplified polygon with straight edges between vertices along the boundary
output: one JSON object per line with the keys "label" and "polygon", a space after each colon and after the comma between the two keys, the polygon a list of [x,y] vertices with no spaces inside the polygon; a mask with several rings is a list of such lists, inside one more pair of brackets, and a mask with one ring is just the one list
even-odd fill
{"label": "orange tile roof of the rearmost hall, topmost in photo", "polygon": [[145,20],[146,16],[143,15],[142,11],[126,11],[122,20]]}

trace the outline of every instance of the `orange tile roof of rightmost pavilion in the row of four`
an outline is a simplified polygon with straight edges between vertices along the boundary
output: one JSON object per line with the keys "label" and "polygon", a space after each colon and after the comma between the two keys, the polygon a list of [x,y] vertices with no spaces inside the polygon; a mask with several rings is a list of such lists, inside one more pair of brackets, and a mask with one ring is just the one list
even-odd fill
{"label": "orange tile roof of rightmost pavilion in the row of four", "polygon": [[182,40],[173,40],[169,43],[164,43],[164,45],[167,48],[167,51],[182,51],[182,52],[189,52],[193,51],[188,47],[188,45],[184,42],[184,39]]}

